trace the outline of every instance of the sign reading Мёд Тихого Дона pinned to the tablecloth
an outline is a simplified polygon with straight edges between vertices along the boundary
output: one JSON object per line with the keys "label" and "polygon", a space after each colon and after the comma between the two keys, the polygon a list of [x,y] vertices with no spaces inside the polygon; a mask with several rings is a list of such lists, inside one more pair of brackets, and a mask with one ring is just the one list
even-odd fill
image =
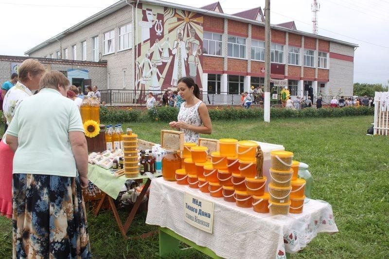
{"label": "sign reading \u041c\u0451\u0434 \u0422\u0438\u0445\u043e\u0433\u043e \u0414\u043e\u043d\u0430 pinned to the tablecloth", "polygon": [[198,198],[185,192],[184,220],[188,224],[212,234],[213,202]]}

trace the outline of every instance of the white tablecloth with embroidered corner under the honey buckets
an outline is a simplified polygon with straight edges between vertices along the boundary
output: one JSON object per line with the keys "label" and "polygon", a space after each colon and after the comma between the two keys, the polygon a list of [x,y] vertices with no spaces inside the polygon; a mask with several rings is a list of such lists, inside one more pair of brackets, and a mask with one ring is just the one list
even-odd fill
{"label": "white tablecloth with embroidered corner under the honey buckets", "polygon": [[[185,192],[214,203],[212,234],[184,221]],[[220,257],[239,259],[286,259],[285,252],[296,253],[318,233],[338,231],[332,207],[324,201],[307,198],[301,214],[270,216],[162,177],[151,182],[146,223],[167,227]]]}

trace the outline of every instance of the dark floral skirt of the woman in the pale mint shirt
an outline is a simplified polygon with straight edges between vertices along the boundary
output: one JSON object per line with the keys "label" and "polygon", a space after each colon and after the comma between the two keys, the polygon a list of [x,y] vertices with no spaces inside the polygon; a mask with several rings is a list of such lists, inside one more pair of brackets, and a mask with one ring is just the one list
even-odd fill
{"label": "dark floral skirt of the woman in the pale mint shirt", "polygon": [[79,177],[13,174],[14,258],[91,258]]}

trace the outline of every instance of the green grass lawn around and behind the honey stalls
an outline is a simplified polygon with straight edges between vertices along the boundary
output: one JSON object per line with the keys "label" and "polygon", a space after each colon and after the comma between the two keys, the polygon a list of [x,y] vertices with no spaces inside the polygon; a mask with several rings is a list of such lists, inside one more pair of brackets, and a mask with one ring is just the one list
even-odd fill
{"label": "green grass lawn around and behind the honey stalls", "polygon": [[[329,202],[339,233],[319,234],[292,258],[389,257],[389,137],[366,136],[372,116],[343,118],[215,121],[210,138],[253,139],[282,144],[309,165],[314,199]],[[159,142],[167,123],[132,123],[140,138]],[[122,213],[124,216],[124,213]],[[138,215],[130,235],[155,229]],[[95,258],[156,258],[158,236],[124,241],[111,213],[89,214]],[[0,217],[0,258],[11,256],[11,221]],[[260,255],[258,255],[260,257]],[[191,258],[200,258],[193,251]]]}

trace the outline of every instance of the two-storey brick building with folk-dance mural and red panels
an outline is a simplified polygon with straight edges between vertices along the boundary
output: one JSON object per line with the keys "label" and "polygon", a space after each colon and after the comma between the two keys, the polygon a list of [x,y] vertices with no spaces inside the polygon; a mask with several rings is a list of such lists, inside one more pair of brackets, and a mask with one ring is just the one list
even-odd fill
{"label": "two-storey brick building with folk-dance mural and red panels", "polygon": [[[254,18],[224,14],[219,3],[202,9],[121,0],[26,54],[106,61],[103,89],[160,92],[190,76],[203,92],[241,93],[263,86],[265,77],[262,10],[249,13]],[[271,79],[292,95],[306,95],[310,86],[313,95],[352,95],[356,47],[272,25]]]}

